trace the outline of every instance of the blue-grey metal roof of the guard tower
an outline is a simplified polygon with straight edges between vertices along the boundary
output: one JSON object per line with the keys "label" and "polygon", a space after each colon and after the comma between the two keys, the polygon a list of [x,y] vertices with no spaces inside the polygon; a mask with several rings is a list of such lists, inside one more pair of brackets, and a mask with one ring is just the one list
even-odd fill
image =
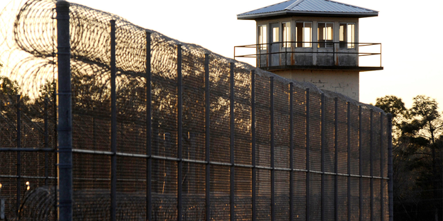
{"label": "blue-grey metal roof of the guard tower", "polygon": [[237,15],[237,19],[266,17],[375,17],[379,12],[330,0],[289,0]]}

